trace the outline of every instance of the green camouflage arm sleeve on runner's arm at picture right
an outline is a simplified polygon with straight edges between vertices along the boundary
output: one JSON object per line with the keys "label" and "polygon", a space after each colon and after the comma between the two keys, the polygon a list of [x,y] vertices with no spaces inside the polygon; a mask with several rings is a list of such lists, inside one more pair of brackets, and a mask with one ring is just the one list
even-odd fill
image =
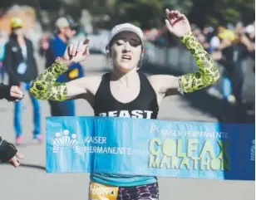
{"label": "green camouflage arm sleeve on runner's arm at picture right", "polygon": [[196,64],[199,66],[199,71],[195,73],[179,76],[179,91],[181,94],[193,92],[194,90],[202,89],[206,86],[214,84],[219,80],[219,70],[211,59],[204,47],[194,37],[192,32],[188,32],[181,41],[192,53]]}

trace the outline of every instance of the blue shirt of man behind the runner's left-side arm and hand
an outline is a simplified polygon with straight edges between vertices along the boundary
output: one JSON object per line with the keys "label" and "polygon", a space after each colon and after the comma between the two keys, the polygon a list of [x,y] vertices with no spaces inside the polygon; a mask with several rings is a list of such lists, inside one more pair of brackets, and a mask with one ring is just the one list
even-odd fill
{"label": "blue shirt of man behind the runner's left-side arm and hand", "polygon": [[[66,50],[67,44],[62,41],[60,37],[54,37],[50,41],[49,51],[46,54],[46,65],[47,67],[51,66],[52,63],[58,56],[64,56],[64,52]],[[69,66],[69,70],[63,73],[58,77],[57,82],[68,82],[70,80],[74,80],[76,78],[81,78],[83,75],[82,66],[79,63],[74,63]]]}

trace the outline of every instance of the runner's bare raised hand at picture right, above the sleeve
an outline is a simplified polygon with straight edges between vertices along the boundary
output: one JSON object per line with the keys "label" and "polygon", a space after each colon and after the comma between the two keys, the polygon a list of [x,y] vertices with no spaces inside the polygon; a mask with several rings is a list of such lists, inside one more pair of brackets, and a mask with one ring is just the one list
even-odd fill
{"label": "runner's bare raised hand at picture right, above the sleeve", "polygon": [[170,11],[169,9],[166,9],[165,12],[167,17],[165,24],[170,33],[176,37],[183,37],[185,33],[191,31],[190,22],[184,14],[179,11]]}

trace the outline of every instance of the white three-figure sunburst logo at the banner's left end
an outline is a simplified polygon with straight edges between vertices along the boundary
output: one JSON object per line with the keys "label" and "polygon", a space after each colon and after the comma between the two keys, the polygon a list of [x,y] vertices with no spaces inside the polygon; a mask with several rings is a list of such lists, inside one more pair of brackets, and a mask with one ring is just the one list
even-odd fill
{"label": "white three-figure sunburst logo at the banner's left end", "polygon": [[76,139],[76,134],[69,134],[69,131],[65,129],[63,133],[56,133],[55,139],[53,139],[53,153],[59,153],[63,147],[70,148],[74,153],[79,152],[79,146]]}

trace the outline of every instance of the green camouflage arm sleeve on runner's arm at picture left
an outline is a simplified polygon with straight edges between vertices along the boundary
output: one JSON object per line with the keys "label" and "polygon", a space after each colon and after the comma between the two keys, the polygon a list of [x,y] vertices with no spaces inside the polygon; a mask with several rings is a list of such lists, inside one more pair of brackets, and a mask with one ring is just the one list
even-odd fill
{"label": "green camouflage arm sleeve on runner's arm at picture left", "polygon": [[68,67],[61,61],[55,61],[36,80],[29,90],[30,94],[39,100],[66,100],[66,84],[56,82],[58,76],[67,71]]}

